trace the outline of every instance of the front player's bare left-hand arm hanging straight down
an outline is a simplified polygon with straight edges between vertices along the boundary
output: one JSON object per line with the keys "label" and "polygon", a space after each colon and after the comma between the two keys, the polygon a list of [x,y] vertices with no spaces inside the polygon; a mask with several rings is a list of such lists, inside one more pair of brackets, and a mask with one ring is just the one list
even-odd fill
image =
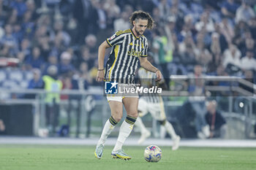
{"label": "front player's bare left-hand arm hanging straight down", "polygon": [[97,77],[96,81],[101,82],[104,80],[104,58],[105,58],[105,51],[106,48],[109,48],[110,45],[108,45],[108,42],[102,42],[101,45],[99,45],[99,50],[98,50],[98,72],[97,72]]}

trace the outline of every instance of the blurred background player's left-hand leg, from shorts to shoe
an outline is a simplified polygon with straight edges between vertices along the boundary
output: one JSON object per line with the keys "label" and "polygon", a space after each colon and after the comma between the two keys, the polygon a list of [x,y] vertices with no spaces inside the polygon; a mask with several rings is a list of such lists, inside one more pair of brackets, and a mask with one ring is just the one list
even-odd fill
{"label": "blurred background player's left-hand leg, from shorts to shoe", "polygon": [[135,125],[140,130],[140,139],[138,140],[138,144],[142,144],[149,136],[151,136],[151,132],[148,131],[141,120],[140,117],[143,117],[148,113],[148,103],[143,99],[140,98],[139,105],[138,105],[138,117],[135,122]]}

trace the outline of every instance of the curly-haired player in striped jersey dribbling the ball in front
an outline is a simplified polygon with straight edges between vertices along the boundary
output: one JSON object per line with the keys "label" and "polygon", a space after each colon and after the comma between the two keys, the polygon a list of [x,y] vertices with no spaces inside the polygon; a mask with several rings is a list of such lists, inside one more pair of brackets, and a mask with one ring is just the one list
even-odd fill
{"label": "curly-haired player in striped jersey dribbling the ball in front", "polygon": [[[148,42],[143,36],[146,28],[153,28],[154,20],[147,12],[135,11],[129,18],[132,24],[131,29],[125,31],[117,31],[110,38],[99,46],[98,53],[98,72],[97,81],[113,81],[131,85],[134,83],[135,71],[140,66],[149,72],[156,74],[156,81],[162,79],[162,74],[156,67],[147,60]],[[104,57],[105,50],[108,47],[113,47],[108,62],[105,68],[104,75]],[[124,153],[122,146],[132,131],[133,125],[138,117],[138,95],[137,96],[107,96],[111,117],[105,123],[97,143],[94,155],[96,158],[102,158],[104,144],[108,135],[116,127],[116,124],[123,116],[123,104],[127,111],[127,117],[121,124],[119,129],[118,139],[111,155],[113,158],[121,158],[129,160],[131,157]]]}

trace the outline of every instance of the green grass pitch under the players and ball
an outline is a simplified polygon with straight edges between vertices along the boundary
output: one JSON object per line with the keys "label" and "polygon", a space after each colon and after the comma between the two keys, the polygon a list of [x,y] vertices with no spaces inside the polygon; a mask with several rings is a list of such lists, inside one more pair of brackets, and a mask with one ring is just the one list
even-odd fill
{"label": "green grass pitch under the players and ball", "polygon": [[94,146],[1,145],[0,170],[150,170],[150,169],[256,169],[256,148],[181,147],[162,149],[162,160],[148,163],[145,147],[125,147],[132,160],[113,159],[113,147],[105,147],[102,159],[94,158]]}

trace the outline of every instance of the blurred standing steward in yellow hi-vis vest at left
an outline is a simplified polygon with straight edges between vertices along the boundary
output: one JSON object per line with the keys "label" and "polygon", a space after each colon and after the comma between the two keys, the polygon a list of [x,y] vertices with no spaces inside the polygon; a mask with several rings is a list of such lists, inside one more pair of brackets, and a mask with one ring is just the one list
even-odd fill
{"label": "blurred standing steward in yellow hi-vis vest at left", "polygon": [[[47,75],[42,77],[45,84],[45,118],[46,125],[53,136],[56,133],[56,126],[59,125],[59,92],[62,88],[62,82],[58,80],[58,68],[49,66]],[[54,93],[55,92],[55,93]]]}

